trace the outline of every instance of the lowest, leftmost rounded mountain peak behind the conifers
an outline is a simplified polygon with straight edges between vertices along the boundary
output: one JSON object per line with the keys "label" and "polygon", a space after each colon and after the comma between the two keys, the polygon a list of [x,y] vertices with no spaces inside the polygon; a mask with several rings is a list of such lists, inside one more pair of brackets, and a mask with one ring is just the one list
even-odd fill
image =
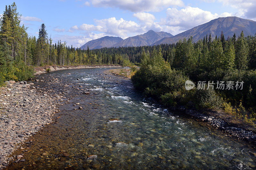
{"label": "lowest, leftmost rounded mountain peak behind the conifers", "polygon": [[81,49],[87,49],[87,46],[89,46],[89,49],[97,49],[97,48],[103,48],[103,47],[111,47],[114,44],[118,43],[119,41],[122,41],[123,39],[120,37],[101,37],[99,39],[93,39],[91,41],[88,41],[83,46],[81,46]]}

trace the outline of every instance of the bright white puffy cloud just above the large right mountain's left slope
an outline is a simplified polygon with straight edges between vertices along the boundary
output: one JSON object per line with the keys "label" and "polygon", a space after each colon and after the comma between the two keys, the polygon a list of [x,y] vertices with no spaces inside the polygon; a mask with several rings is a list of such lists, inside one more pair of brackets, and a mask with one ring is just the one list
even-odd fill
{"label": "bright white puffy cloud just above the large right mountain's left slope", "polygon": [[231,13],[225,12],[222,14],[214,13],[210,11],[204,11],[200,8],[187,6],[183,9],[168,8],[166,10],[166,18],[162,19],[162,25],[179,26],[183,30],[191,29],[197,25],[209,22],[212,19],[219,17],[231,16]]}

